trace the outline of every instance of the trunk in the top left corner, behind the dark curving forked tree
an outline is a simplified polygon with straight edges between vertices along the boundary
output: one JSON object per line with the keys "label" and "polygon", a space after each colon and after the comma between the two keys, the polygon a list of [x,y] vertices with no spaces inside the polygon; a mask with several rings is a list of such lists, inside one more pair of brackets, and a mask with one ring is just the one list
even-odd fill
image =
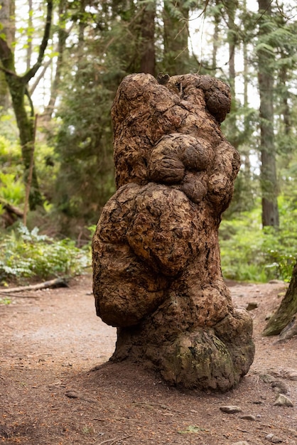
{"label": "trunk in the top left corner, behind the dark curving forked tree", "polygon": [[[6,42],[11,48],[11,43],[13,43],[16,39],[14,16],[14,0],[0,0],[0,23],[3,26],[1,33],[5,34]],[[9,87],[6,82],[5,73],[0,70],[0,112],[2,110],[5,112],[9,108],[9,104]]]}

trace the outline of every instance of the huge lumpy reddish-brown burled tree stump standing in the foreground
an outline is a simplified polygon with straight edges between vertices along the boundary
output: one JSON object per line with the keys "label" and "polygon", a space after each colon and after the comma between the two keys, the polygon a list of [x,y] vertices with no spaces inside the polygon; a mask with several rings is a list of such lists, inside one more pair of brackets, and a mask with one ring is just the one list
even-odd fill
{"label": "huge lumpy reddish-brown burled tree stump standing in the foreground", "polygon": [[220,268],[240,164],[220,130],[229,107],[229,87],[210,76],[125,77],[112,107],[117,193],[93,240],[97,315],[118,328],[112,360],[222,391],[254,358],[252,320]]}

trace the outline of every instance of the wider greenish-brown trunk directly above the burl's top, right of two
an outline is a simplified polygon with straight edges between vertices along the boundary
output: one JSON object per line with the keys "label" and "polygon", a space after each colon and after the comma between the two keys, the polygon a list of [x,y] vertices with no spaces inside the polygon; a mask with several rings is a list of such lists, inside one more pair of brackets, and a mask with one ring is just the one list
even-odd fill
{"label": "wider greenish-brown trunk directly above the burl's top, right of two", "polygon": [[164,65],[170,75],[188,72],[188,18],[189,9],[183,1],[175,1],[174,6],[164,1]]}

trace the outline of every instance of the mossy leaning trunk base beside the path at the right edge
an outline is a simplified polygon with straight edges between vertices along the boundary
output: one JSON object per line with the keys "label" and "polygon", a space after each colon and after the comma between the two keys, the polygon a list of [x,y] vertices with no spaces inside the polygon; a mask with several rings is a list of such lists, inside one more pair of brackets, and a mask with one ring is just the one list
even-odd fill
{"label": "mossy leaning trunk base beside the path at the right edge", "polygon": [[269,319],[264,336],[277,336],[288,326],[297,314],[297,264],[293,269],[290,285],[279,309]]}

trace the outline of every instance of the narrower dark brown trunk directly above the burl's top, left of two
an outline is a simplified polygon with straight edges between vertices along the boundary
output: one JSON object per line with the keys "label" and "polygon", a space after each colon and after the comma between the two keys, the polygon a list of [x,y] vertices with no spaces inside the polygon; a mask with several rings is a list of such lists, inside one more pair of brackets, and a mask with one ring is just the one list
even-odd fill
{"label": "narrower dark brown trunk directly above the burl's top, left of two", "polygon": [[155,56],[155,16],[156,1],[146,5],[141,17],[141,65],[142,73],[156,75]]}

